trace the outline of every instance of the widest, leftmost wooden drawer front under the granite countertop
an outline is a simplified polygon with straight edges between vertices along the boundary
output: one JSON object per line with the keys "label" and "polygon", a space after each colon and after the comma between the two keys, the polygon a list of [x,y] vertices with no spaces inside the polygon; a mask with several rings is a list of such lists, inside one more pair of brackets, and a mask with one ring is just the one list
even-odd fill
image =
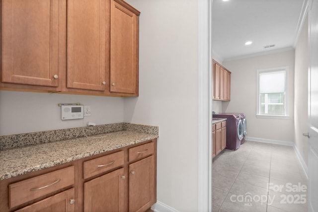
{"label": "widest, leftmost wooden drawer front under the granite countertop", "polygon": [[9,208],[74,184],[74,166],[9,185]]}

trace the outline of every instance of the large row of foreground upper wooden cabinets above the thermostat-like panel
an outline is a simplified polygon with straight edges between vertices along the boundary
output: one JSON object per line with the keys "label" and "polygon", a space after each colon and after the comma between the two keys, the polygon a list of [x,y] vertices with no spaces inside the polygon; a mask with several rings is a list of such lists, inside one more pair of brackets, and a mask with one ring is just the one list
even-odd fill
{"label": "large row of foreground upper wooden cabinets above the thermostat-like panel", "polygon": [[0,88],[138,96],[140,12],[123,0],[2,0]]}

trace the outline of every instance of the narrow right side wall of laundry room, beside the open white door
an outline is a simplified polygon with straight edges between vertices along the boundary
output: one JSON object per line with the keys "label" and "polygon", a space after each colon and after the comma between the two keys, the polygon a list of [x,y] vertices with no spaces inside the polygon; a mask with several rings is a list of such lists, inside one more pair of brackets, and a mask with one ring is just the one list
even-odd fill
{"label": "narrow right side wall of laundry room, beside the open white door", "polygon": [[295,48],[295,145],[308,165],[308,17]]}

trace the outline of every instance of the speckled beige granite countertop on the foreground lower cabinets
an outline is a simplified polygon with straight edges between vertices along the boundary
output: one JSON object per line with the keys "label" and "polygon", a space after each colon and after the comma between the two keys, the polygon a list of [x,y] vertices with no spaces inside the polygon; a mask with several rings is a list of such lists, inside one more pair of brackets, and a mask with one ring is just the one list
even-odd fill
{"label": "speckled beige granite countertop on the foreground lower cabinets", "polygon": [[[118,126],[120,124],[122,126]],[[104,134],[85,134],[88,138],[85,135],[80,137],[82,135],[79,133],[79,137],[73,139],[36,144],[30,144],[28,141],[27,145],[24,146],[3,148],[0,151],[0,180],[159,137],[158,127],[155,126],[127,123],[115,125],[116,130],[118,130],[116,132],[112,132],[111,126],[110,132],[106,131]],[[81,128],[70,130],[72,132],[79,130],[80,132]],[[65,130],[63,132],[65,133]],[[52,131],[49,131],[43,135],[51,133]],[[16,139],[17,136],[10,136],[10,138]],[[30,137],[30,135],[28,136]],[[25,134],[21,134],[21,137],[25,138]],[[2,136],[0,142],[1,140],[7,141],[8,138]]]}

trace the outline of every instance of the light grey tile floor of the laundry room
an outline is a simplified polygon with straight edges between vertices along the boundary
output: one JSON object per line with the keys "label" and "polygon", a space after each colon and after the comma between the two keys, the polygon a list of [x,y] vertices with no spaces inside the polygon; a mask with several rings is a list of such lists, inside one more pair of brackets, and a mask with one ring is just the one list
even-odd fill
{"label": "light grey tile floor of the laundry room", "polygon": [[212,163],[213,212],[307,212],[307,177],[292,146],[245,141]]}

